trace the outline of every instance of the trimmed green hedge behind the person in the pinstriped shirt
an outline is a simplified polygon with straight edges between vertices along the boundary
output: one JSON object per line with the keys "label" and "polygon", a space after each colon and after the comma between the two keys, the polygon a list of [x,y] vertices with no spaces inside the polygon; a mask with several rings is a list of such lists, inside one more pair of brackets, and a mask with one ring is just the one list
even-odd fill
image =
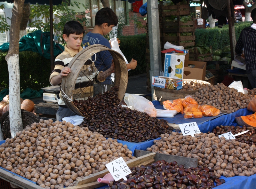
{"label": "trimmed green hedge behind the person in the pinstriped shirt", "polygon": [[[238,40],[242,29],[250,27],[252,22],[239,22],[235,24],[236,40]],[[229,43],[228,25],[223,28],[196,29],[196,45],[211,46],[212,50],[222,49]]]}

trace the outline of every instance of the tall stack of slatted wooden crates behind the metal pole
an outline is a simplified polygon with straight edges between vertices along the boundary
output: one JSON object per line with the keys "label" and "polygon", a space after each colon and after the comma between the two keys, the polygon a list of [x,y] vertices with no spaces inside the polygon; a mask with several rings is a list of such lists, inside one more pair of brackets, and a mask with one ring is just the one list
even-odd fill
{"label": "tall stack of slatted wooden crates behind the metal pole", "polygon": [[[159,28],[160,28],[160,44],[161,51],[164,50],[166,42],[178,46],[195,46],[195,21],[191,19],[184,21],[183,18],[190,18],[190,7],[188,4],[164,5],[163,1],[159,1]],[[170,17],[177,17],[174,21]],[[146,48],[146,62],[147,62],[147,89],[151,91],[151,83],[149,76],[150,56],[149,56],[149,39],[148,39],[148,23],[147,23],[147,48]],[[161,54],[162,67],[164,67],[164,54]]]}

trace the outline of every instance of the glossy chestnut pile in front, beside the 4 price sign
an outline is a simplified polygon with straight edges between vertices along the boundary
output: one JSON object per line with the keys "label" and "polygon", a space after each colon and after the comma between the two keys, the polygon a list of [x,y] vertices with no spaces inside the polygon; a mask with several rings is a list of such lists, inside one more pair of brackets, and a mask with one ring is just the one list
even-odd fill
{"label": "glossy chestnut pile in front, beside the 4 price sign", "polygon": [[110,182],[111,189],[211,189],[225,183],[224,179],[215,176],[213,169],[208,169],[206,164],[196,168],[186,168],[177,165],[176,161],[168,163],[161,160],[147,167],[133,167],[127,180]]}

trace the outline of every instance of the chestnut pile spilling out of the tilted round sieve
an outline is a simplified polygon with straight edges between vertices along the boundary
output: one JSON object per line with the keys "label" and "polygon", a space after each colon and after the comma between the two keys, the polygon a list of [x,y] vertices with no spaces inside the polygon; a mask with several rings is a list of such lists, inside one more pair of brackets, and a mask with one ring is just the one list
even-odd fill
{"label": "chestnut pile spilling out of the tilted round sieve", "polygon": [[80,126],[105,137],[128,142],[143,142],[159,138],[164,133],[172,133],[173,128],[169,127],[166,120],[122,107],[117,91],[112,88],[84,101],[74,100],[75,106],[86,116]]}

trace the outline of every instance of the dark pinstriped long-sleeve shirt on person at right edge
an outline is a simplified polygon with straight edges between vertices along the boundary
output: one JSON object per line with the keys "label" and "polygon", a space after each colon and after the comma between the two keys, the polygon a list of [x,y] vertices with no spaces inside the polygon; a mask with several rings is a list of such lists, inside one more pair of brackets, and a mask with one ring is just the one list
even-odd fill
{"label": "dark pinstriped long-sleeve shirt on person at right edge", "polygon": [[[254,26],[254,24],[252,25]],[[244,48],[244,57],[246,64],[246,73],[251,73],[256,69],[256,29],[253,27],[244,28],[236,43],[236,54],[242,54]]]}

